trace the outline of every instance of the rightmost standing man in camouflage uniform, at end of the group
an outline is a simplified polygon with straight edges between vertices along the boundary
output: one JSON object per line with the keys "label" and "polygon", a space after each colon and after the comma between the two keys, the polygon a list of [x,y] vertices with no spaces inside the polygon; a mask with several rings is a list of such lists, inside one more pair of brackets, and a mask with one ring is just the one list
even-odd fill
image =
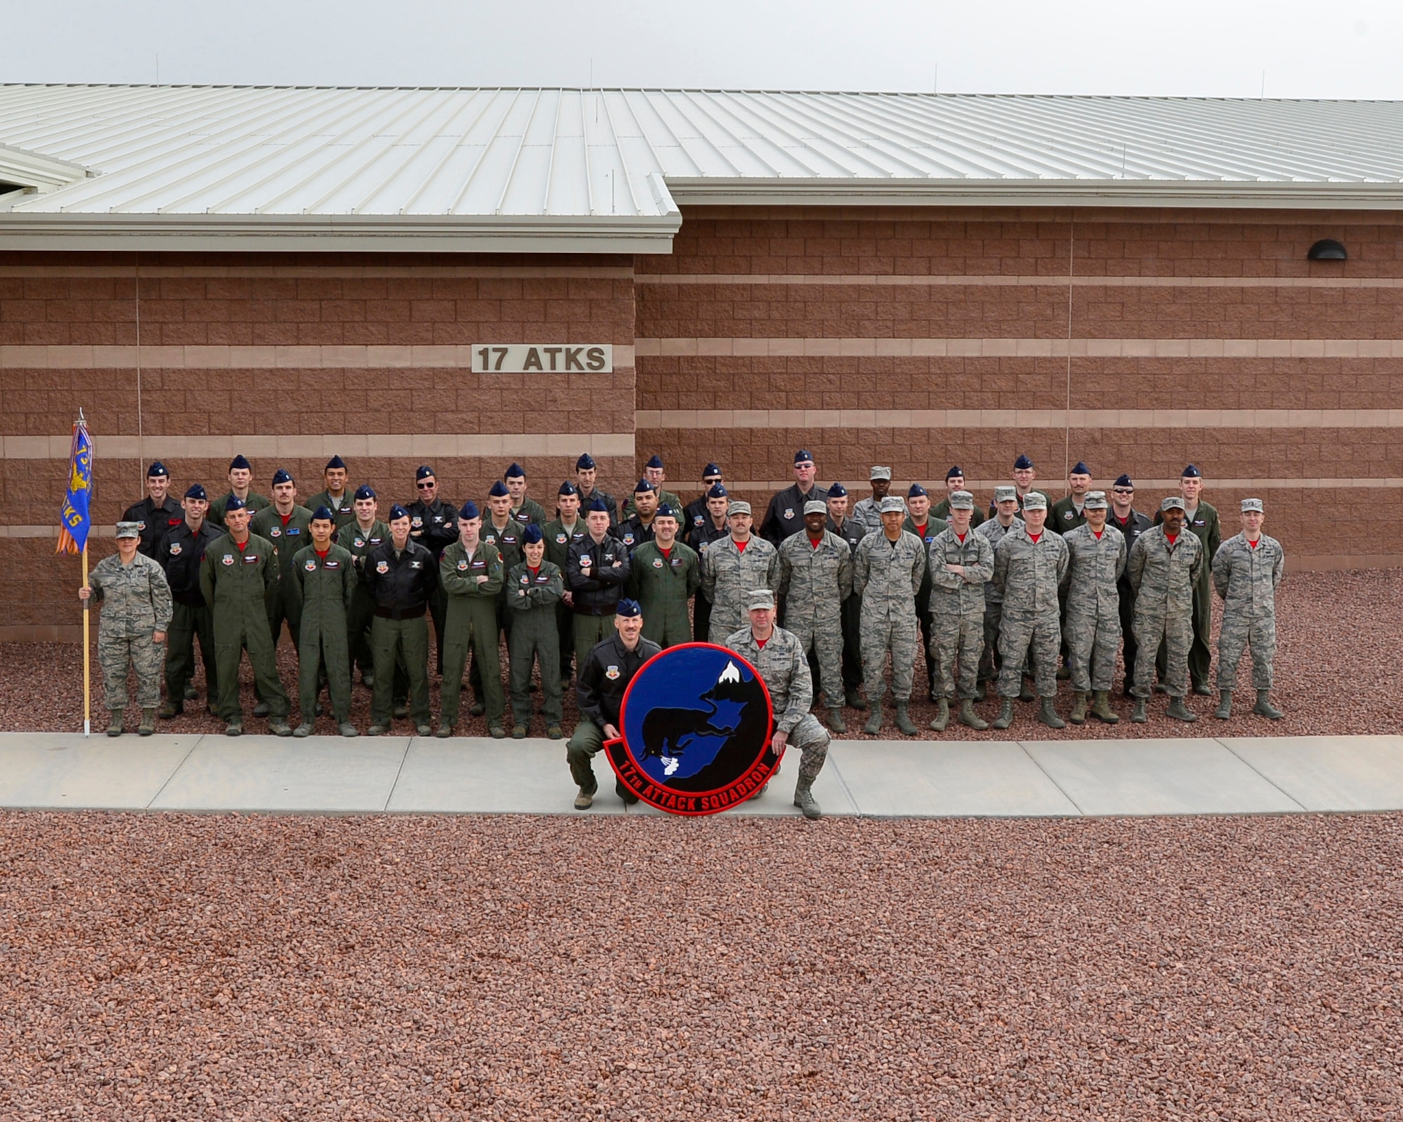
{"label": "rightmost standing man in camouflage uniform, at end of the group", "polygon": [[1218,712],[1232,717],[1232,690],[1244,647],[1251,647],[1253,712],[1273,721],[1284,715],[1271,704],[1271,661],[1277,654],[1277,585],[1285,572],[1281,543],[1261,532],[1261,499],[1242,501],[1242,533],[1229,537],[1214,555],[1214,586],[1223,600],[1218,633]]}

